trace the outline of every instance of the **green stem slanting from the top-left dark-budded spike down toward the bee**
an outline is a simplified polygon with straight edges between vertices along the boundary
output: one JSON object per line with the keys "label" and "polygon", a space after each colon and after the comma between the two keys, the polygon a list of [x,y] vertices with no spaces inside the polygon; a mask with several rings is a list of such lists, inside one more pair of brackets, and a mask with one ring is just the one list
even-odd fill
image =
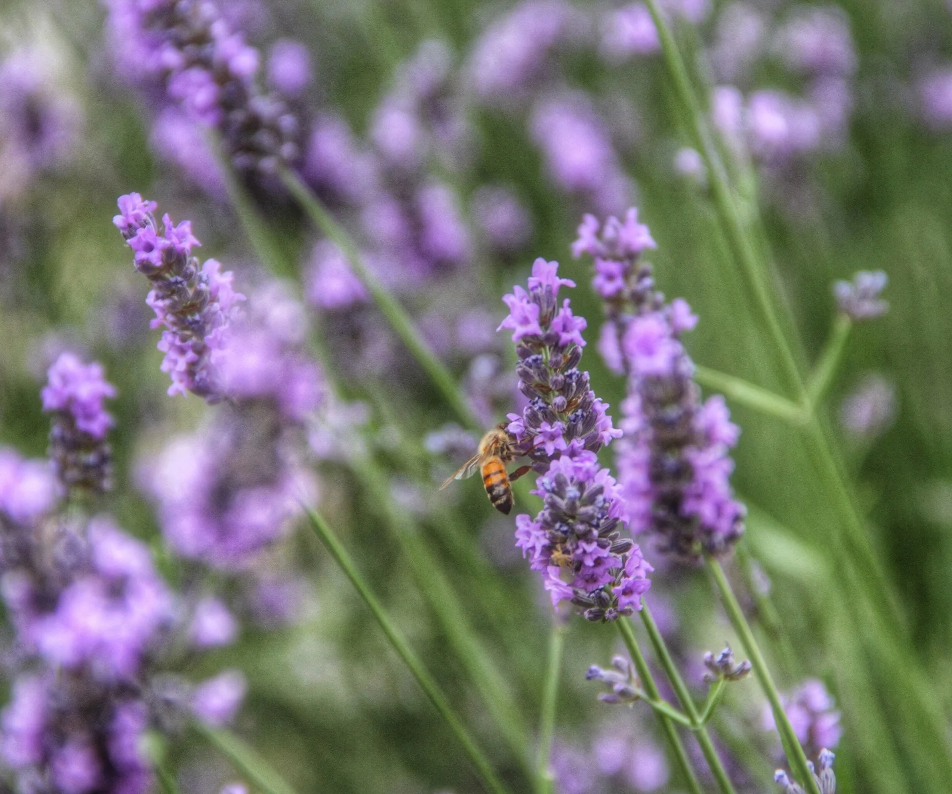
{"label": "green stem slanting from the top-left dark-budded spike down toward the bee", "polygon": [[396,332],[397,336],[407,345],[407,350],[416,358],[417,362],[426,372],[426,376],[433,381],[433,385],[440,391],[450,408],[456,413],[456,416],[469,428],[479,428],[479,421],[466,402],[466,397],[460,392],[456,379],[450,375],[449,371],[443,365],[443,362],[437,358],[436,354],[430,350],[429,345],[416,328],[413,321],[407,315],[403,306],[387,292],[380,281],[377,280],[370,270],[364,257],[360,254],[357,244],[349,234],[337,223],[336,220],[327,212],[327,208],[320,200],[307,188],[307,185],[287,169],[280,172],[282,181],[288,188],[288,191],[297,199],[301,207],[310,215],[314,224],[327,234],[327,237],[347,256],[347,261],[354,273],[367,287],[367,292],[377,304],[377,308],[387,318],[387,322]]}

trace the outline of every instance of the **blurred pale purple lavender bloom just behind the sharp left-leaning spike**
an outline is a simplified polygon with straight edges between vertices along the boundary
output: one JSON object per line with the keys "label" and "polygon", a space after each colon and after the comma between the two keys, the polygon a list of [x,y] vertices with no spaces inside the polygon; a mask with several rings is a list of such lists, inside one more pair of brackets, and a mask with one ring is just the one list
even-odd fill
{"label": "blurred pale purple lavender bloom just behind the sharp left-leaning spike", "polygon": [[257,287],[219,356],[228,403],[204,431],[173,439],[142,466],[140,483],[178,554],[242,568],[288,530],[313,493],[300,448],[323,381],[304,354],[306,336],[304,308],[284,285]]}

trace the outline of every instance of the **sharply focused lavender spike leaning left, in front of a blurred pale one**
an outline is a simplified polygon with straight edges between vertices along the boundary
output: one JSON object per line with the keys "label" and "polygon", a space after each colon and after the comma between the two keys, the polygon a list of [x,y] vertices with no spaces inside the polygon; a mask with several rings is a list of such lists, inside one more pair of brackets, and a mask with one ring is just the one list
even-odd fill
{"label": "sharply focused lavender spike leaning left, in front of a blurred pale one", "polygon": [[164,215],[159,234],[154,201],[139,193],[119,197],[119,214],[112,222],[135,253],[135,269],[149,278],[152,291],[146,302],[155,312],[152,328],[166,327],[158,344],[166,354],[162,371],[169,373],[169,395],[192,392],[216,402],[224,397],[218,366],[226,346],[228,327],[245,295],[231,286],[230,271],[207,259],[200,264],[191,255],[201,245],[191,234],[191,221],[172,224]]}

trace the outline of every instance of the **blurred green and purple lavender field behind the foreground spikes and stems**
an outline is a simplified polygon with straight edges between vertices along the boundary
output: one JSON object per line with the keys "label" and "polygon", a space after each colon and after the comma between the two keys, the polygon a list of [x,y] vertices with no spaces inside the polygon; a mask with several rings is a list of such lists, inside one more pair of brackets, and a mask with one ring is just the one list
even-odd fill
{"label": "blurred green and purple lavender field behind the foreground spikes and stems", "polygon": [[[274,286],[212,138],[141,79],[115,21],[122,4],[111,5],[0,7],[0,442],[43,457],[50,424],[38,392],[48,367],[64,350],[100,360],[118,391],[105,507],[149,543],[169,580],[196,576],[164,540],[163,499],[172,497],[161,480],[163,466],[176,465],[175,439],[211,425],[218,407],[167,397],[149,286],[111,223],[116,198],[133,191],[175,222],[190,219],[197,253],[234,271],[242,292],[284,289],[303,300],[338,386],[299,450],[308,487],[493,763],[513,790],[526,790],[451,628],[427,603],[407,560],[412,547],[387,529],[381,504],[390,499],[410,517],[531,746],[551,609],[513,545],[513,517],[493,511],[475,479],[438,490],[476,438],[452,424],[340,252],[264,180],[248,194],[289,265],[278,274],[286,286]],[[739,205],[775,266],[783,330],[804,371],[833,326],[834,281],[888,275],[888,314],[856,323],[822,414],[898,597],[902,655],[892,665],[870,657],[862,621],[844,607],[849,590],[833,561],[843,514],[823,461],[797,428],[728,399],[743,431],[733,482],[750,511],[744,560],[776,611],[764,615],[748,597],[743,605],[781,689],[820,680],[836,702],[825,710],[842,711],[838,790],[900,790],[883,783],[891,780],[940,791],[911,746],[921,725],[908,723],[906,690],[889,684],[909,675],[899,660],[915,659],[931,706],[942,715],[952,706],[952,6],[663,7]],[[258,49],[262,85],[296,119],[299,173],[486,428],[518,404],[511,344],[495,329],[501,296],[537,256],[577,282],[573,310],[589,322],[584,368],[618,406],[624,382],[595,351],[602,309],[590,265],[569,245],[582,214],[621,216],[629,206],[658,243],[648,258],[659,287],[700,316],[686,341],[695,362],[786,388],[642,3],[232,0],[219,11]],[[383,493],[354,477],[355,448],[387,473]],[[610,449],[602,459],[612,465]],[[733,634],[704,571],[645,555],[657,568],[647,600],[700,698],[704,651]],[[224,666],[244,671],[234,730],[301,792],[478,790],[445,724],[307,531],[290,527],[255,565],[205,575],[203,586],[240,604],[242,631],[183,668],[195,679]],[[619,650],[605,626],[571,622],[556,790],[684,790],[649,709],[598,702],[585,682],[590,664],[607,665]],[[752,681],[731,687],[713,729],[739,790],[770,790],[779,744]],[[892,778],[877,765],[882,746]],[[194,738],[169,740],[168,753],[185,794],[241,777]]]}

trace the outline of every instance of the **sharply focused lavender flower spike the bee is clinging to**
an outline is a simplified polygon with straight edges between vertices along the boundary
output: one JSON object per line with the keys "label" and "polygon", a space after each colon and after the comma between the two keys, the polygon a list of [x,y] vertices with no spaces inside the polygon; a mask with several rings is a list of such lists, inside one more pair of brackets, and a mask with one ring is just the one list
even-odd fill
{"label": "sharply focused lavender flower spike the bee is clinging to", "polygon": [[614,621],[641,608],[653,569],[620,536],[621,493],[595,453],[621,432],[578,369],[585,319],[572,314],[567,298],[559,305],[559,288],[575,284],[558,267],[536,259],[528,291],[517,286],[503,298],[509,315],[500,329],[512,331],[528,398],[521,417],[508,415],[507,428],[540,474],[534,493],[544,501],[535,519],[516,517],[516,545],[542,573],[553,606],[571,601],[589,621]]}

